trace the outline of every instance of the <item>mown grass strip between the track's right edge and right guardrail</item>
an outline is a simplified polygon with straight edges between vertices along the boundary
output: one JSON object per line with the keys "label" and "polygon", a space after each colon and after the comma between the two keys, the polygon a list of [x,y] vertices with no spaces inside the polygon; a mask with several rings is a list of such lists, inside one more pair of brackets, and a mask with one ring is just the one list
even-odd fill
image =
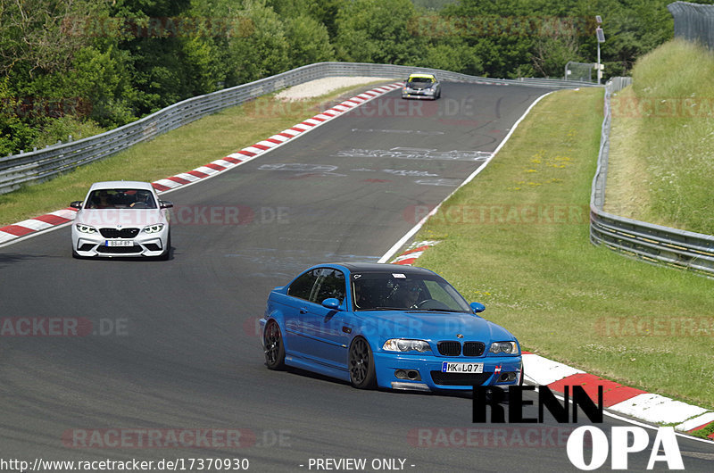
{"label": "mown grass strip between the track's right edge and right guardrail", "polygon": [[523,347],[627,386],[714,407],[714,280],[589,243],[602,89],[538,104],[428,220],[419,259]]}

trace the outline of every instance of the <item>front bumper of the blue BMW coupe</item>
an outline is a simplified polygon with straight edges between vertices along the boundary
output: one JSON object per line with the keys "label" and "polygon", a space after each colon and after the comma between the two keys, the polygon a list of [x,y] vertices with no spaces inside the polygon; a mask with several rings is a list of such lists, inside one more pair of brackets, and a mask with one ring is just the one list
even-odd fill
{"label": "front bumper of the blue BMW coupe", "polygon": [[[470,358],[376,352],[374,359],[378,385],[389,389],[470,390],[474,385],[518,385],[522,376],[520,356]],[[484,368],[482,373],[477,374],[444,373],[442,369],[444,362],[483,363]],[[415,373],[418,373],[419,376],[415,377]],[[508,376],[509,373],[515,374],[515,376]]]}

